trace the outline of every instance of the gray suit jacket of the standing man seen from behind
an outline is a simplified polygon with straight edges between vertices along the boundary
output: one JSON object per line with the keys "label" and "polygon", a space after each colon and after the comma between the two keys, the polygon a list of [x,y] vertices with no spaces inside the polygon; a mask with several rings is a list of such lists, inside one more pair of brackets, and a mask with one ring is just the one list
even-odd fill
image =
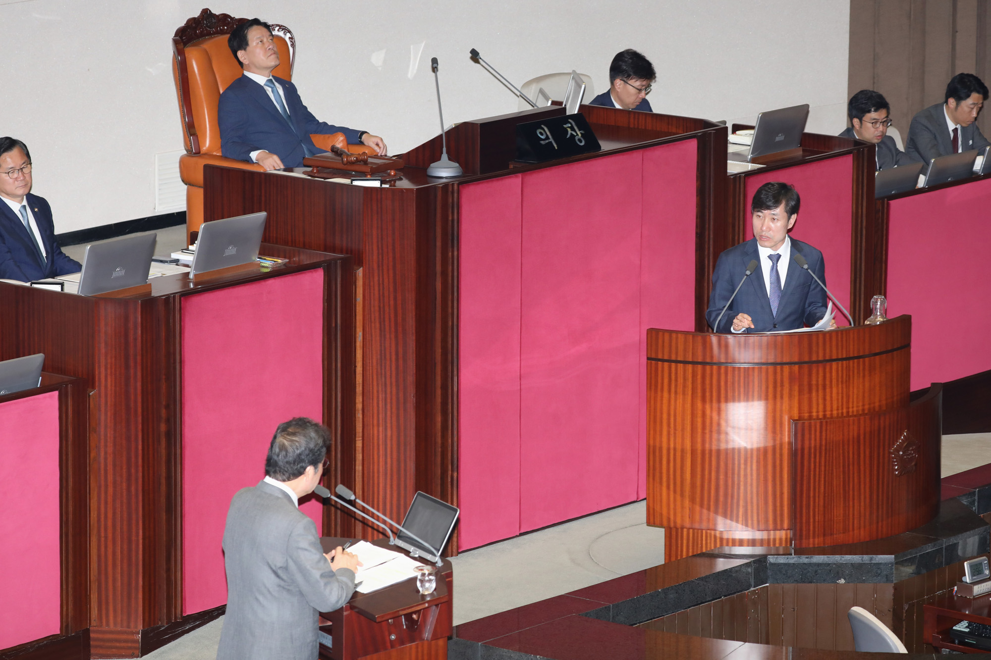
{"label": "gray suit jacket of the standing man seen from behind", "polygon": [[317,612],[344,605],[355,574],[334,574],[316,524],[264,481],[231,499],[224,527],[227,614],[217,660],[314,660]]}

